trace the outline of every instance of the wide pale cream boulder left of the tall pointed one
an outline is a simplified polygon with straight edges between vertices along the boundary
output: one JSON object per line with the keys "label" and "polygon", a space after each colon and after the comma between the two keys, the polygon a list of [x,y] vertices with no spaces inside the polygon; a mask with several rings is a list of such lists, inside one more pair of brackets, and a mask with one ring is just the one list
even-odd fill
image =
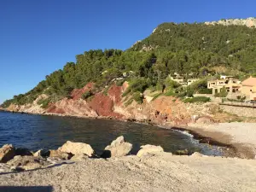
{"label": "wide pale cream boulder left of the tall pointed one", "polygon": [[86,143],[73,143],[67,141],[61,148],[59,148],[61,152],[71,153],[71,154],[87,154],[88,156],[92,156],[94,154],[94,150],[90,147],[89,144]]}

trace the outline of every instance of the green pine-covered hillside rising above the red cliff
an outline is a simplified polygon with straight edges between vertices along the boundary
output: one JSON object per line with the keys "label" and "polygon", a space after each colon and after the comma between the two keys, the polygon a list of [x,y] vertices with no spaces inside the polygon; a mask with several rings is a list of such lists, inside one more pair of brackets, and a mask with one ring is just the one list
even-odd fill
{"label": "green pine-covered hillside rising above the red cliff", "polygon": [[[74,89],[95,83],[83,92],[88,99],[97,92],[108,94],[110,84],[128,81],[130,88],[125,95],[137,102],[147,88],[162,90],[178,86],[168,81],[168,74],[193,74],[203,79],[215,75],[216,67],[241,78],[256,73],[256,30],[247,26],[205,25],[189,23],[163,23],[142,41],[125,51],[119,49],[90,50],[76,55],[76,62],[68,62],[63,69],[49,74],[34,89],[14,96],[3,103],[24,105],[35,102],[43,108],[61,99],[73,98]],[[204,88],[204,87],[202,87]],[[186,90],[187,91],[187,90]],[[183,94],[183,90],[177,90]],[[188,91],[187,91],[188,92]]]}

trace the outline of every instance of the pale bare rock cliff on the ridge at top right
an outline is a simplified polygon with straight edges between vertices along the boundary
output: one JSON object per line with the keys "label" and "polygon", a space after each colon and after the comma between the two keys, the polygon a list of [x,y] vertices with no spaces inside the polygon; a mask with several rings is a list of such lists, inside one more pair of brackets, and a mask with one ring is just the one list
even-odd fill
{"label": "pale bare rock cliff on the ridge at top right", "polygon": [[256,18],[249,17],[247,19],[230,19],[205,22],[206,25],[223,25],[223,26],[247,26],[256,27]]}

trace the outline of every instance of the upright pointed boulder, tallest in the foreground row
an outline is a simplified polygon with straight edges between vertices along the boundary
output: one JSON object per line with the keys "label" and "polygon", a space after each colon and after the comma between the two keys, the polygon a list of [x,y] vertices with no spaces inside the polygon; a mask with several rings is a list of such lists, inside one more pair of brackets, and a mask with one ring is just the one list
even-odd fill
{"label": "upright pointed boulder, tallest in the foreground row", "polygon": [[102,157],[109,158],[125,156],[130,153],[131,148],[132,144],[125,143],[125,138],[120,136],[105,148]]}

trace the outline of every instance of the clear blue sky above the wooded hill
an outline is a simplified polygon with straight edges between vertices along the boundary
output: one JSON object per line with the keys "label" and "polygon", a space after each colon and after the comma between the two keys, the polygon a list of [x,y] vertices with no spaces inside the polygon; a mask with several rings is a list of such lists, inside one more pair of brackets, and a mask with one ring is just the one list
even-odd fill
{"label": "clear blue sky above the wooded hill", "polygon": [[0,0],[0,103],[89,49],[128,49],[162,22],[255,15],[254,0]]}

